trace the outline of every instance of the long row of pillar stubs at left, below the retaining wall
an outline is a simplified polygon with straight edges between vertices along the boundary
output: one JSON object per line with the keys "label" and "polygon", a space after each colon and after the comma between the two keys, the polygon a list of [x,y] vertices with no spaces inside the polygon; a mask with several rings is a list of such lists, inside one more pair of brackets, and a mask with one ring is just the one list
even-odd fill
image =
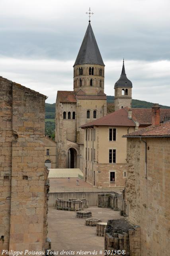
{"label": "long row of pillar stubs at left, below the retaining wall", "polygon": [[68,200],[57,198],[55,202],[55,207],[57,210],[80,211],[83,208],[88,208],[88,201],[85,198]]}

